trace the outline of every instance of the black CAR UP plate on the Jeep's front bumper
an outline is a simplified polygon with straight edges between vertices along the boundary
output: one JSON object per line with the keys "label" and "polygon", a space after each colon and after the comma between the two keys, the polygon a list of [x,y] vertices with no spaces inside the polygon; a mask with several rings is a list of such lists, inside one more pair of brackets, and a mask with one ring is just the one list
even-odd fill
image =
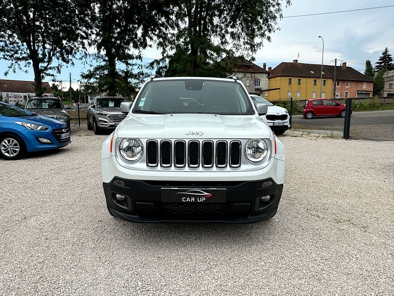
{"label": "black CAR UP plate on the Jeep's front bumper", "polygon": [[224,188],[162,188],[163,202],[226,202],[227,190]]}

